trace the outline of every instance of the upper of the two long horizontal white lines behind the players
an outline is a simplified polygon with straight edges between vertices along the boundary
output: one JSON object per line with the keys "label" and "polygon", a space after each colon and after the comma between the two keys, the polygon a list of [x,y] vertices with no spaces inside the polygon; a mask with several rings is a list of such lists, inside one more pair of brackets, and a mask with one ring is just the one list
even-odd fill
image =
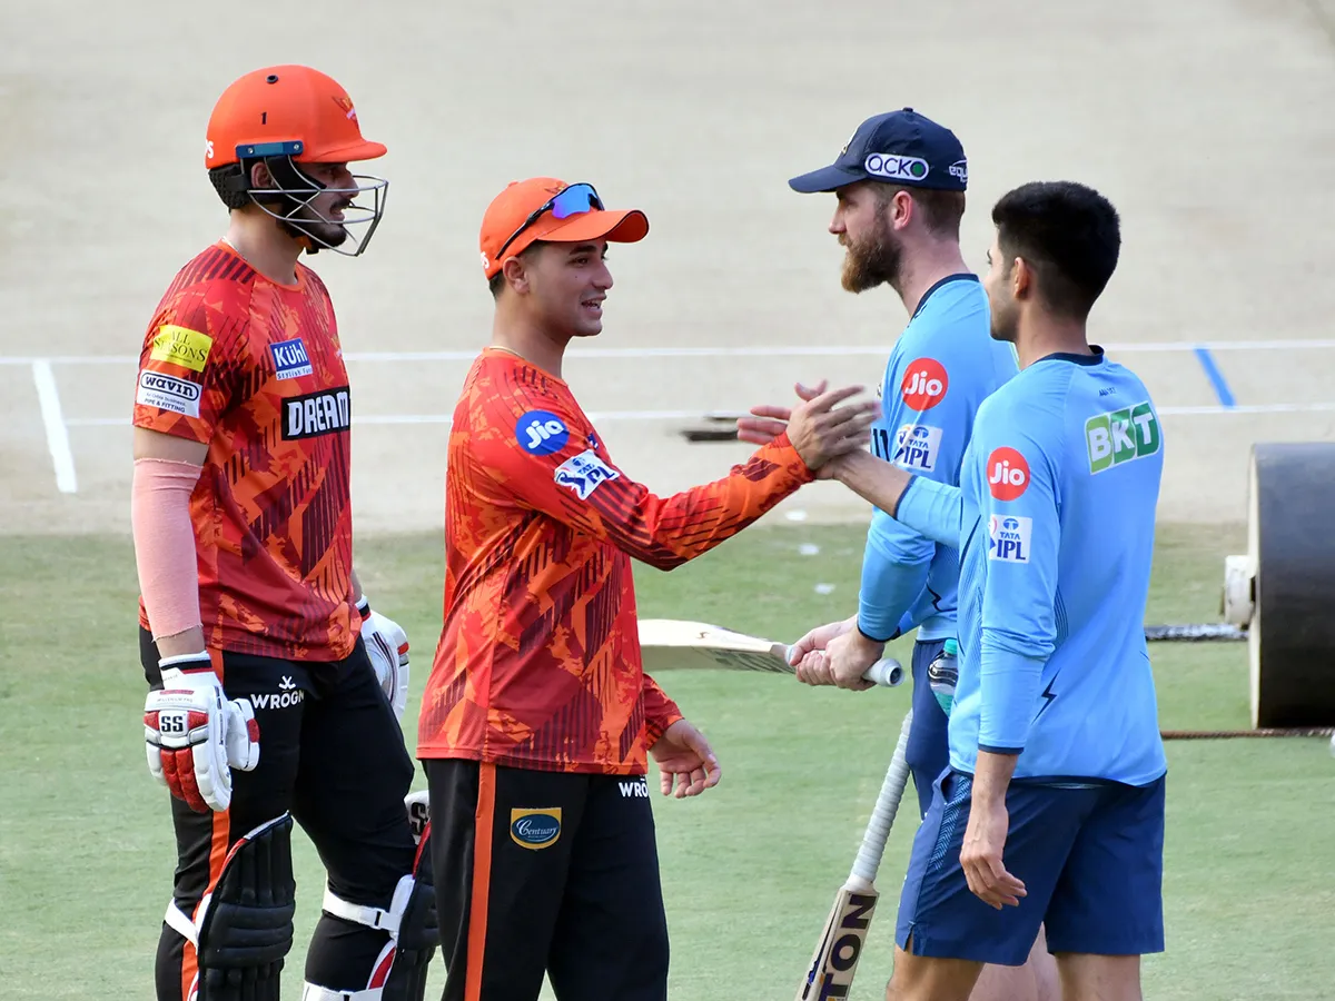
{"label": "upper of the two long horizontal white lines behind the players", "polygon": [[[641,358],[852,358],[886,356],[892,344],[772,344],[769,347],[593,347],[566,352],[570,359],[634,360]],[[1335,339],[1314,340],[1164,340],[1104,344],[1109,354],[1188,354],[1207,351],[1310,351],[1335,348]],[[478,351],[347,351],[347,362],[471,362]],[[56,355],[47,359],[0,356],[0,364],[136,364],[138,355]]]}

